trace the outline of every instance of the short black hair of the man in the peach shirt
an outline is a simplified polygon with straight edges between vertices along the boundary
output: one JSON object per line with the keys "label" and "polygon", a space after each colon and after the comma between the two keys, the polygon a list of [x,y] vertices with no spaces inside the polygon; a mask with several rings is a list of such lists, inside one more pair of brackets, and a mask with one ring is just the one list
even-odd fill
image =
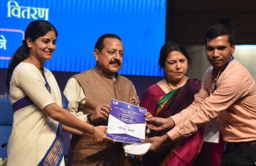
{"label": "short black hair of the man in the peach shirt", "polygon": [[234,44],[234,31],[224,24],[216,24],[208,28],[205,32],[205,45],[207,44],[207,40],[211,40],[212,38],[216,38],[218,36],[223,36],[228,34],[228,42],[230,45]]}

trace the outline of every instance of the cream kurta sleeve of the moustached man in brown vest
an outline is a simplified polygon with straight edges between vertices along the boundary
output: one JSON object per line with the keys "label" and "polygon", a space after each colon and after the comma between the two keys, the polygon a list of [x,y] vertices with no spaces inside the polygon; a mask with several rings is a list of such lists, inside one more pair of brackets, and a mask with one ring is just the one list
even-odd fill
{"label": "cream kurta sleeve of the moustached man in brown vest", "polygon": [[71,114],[77,116],[77,118],[80,120],[87,122],[87,114],[84,115],[83,112],[78,111],[79,103],[86,103],[86,95],[84,94],[84,90],[82,89],[81,85],[79,85],[75,78],[71,77],[67,81],[67,85],[63,93],[69,100],[67,110],[71,112]]}

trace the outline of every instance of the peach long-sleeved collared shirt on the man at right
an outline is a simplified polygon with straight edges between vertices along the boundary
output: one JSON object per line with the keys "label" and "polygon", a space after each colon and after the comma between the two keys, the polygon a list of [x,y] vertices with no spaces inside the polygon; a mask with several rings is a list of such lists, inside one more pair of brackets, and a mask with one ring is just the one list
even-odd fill
{"label": "peach long-sleeved collared shirt on the man at right", "polygon": [[172,140],[190,136],[197,125],[220,120],[220,131],[226,142],[256,140],[255,80],[241,63],[232,62],[216,80],[212,93],[213,67],[203,76],[202,87],[191,105],[171,118],[177,125],[167,134]]}

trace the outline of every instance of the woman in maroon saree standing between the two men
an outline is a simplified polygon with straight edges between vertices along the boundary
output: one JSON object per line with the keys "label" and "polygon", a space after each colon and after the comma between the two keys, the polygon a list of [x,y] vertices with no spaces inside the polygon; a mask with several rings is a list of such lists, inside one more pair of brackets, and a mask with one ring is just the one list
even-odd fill
{"label": "woman in maroon saree standing between the two men", "polygon": [[[195,93],[199,92],[201,81],[186,77],[191,59],[181,44],[166,42],[160,50],[158,64],[164,70],[164,79],[148,87],[140,106],[153,116],[168,118],[187,108]],[[162,136],[167,130],[152,131],[149,137]],[[204,126],[192,136],[178,142],[163,144],[156,152],[143,156],[143,165],[220,165],[224,144],[207,143],[208,153],[199,155],[203,146]],[[209,153],[210,152],[210,153]],[[201,158],[201,159],[200,159]]]}

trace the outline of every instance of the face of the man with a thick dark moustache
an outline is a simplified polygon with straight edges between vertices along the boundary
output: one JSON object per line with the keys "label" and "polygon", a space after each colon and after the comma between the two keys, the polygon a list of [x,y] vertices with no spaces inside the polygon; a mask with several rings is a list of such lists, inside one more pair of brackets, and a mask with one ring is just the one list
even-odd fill
{"label": "face of the man with a thick dark moustache", "polygon": [[106,75],[115,75],[123,65],[123,43],[117,38],[105,38],[104,48],[94,49],[97,65]]}

